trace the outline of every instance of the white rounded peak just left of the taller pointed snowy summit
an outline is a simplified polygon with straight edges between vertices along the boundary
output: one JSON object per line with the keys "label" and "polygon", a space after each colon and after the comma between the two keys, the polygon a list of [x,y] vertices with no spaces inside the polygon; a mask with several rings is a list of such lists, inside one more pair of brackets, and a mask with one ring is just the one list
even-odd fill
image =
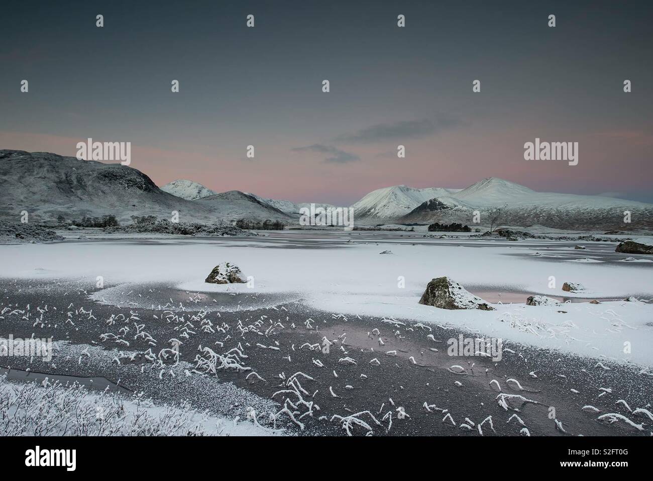
{"label": "white rounded peak just left of the taller pointed snowy summit", "polygon": [[404,216],[415,207],[434,197],[452,195],[457,189],[393,186],[374,190],[351,207],[356,218],[391,219]]}

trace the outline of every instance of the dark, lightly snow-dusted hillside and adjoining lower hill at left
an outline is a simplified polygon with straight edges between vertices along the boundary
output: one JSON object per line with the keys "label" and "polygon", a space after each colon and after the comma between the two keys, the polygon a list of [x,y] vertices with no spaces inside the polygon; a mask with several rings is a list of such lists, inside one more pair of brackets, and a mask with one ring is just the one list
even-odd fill
{"label": "dark, lightly snow-dusted hillside and adjoining lower hill at left", "polygon": [[189,201],[159,189],[150,177],[132,167],[49,152],[0,150],[0,178],[0,217],[14,221],[26,210],[30,222],[52,222],[59,216],[70,222],[84,216],[113,215],[121,224],[129,224],[131,216],[170,219],[173,211],[179,213],[181,222],[293,222],[287,214],[242,192]]}

